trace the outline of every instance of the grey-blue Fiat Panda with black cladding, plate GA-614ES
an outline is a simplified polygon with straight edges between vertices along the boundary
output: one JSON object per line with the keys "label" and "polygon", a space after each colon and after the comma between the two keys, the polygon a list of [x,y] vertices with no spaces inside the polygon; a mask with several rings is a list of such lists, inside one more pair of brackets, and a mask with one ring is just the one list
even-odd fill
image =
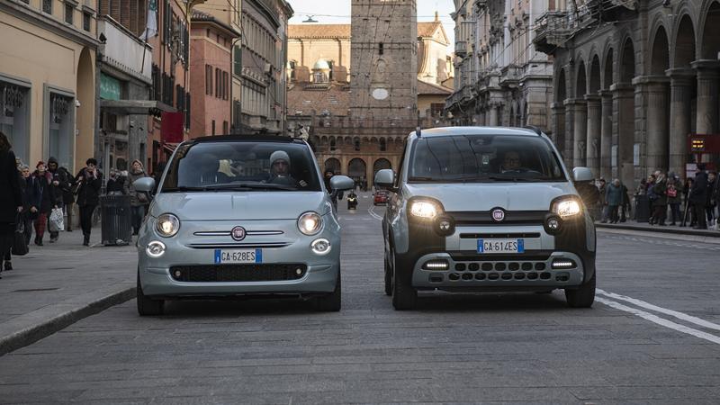
{"label": "grey-blue Fiat Panda with black cladding, plate GA-614ES", "polygon": [[454,127],[413,132],[401,166],[375,184],[383,218],[385,293],[396,310],[419,291],[550,292],[595,299],[595,227],[572,175],[539,130]]}

